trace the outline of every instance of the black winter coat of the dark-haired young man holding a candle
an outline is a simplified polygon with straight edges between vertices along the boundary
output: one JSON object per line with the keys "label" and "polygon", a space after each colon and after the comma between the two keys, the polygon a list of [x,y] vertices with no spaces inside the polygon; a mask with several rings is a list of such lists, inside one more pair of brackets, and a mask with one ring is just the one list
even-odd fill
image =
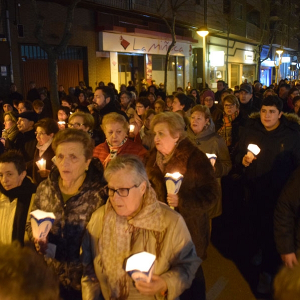
{"label": "black winter coat of the dark-haired young man holding a candle", "polygon": [[257,159],[244,167],[245,183],[251,195],[249,200],[261,202],[260,205],[267,210],[274,208],[286,180],[300,164],[300,126],[297,121],[294,114],[282,115],[279,126],[267,131],[260,115],[254,114],[239,140],[236,162],[240,164],[248,144],[260,148]]}

